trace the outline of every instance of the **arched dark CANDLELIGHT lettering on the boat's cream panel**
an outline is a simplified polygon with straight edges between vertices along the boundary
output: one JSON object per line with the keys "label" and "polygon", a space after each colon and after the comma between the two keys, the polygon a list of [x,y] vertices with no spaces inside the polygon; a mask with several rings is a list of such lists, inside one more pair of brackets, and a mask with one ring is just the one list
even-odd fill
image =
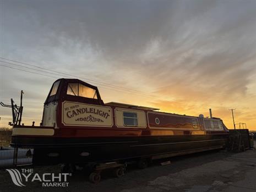
{"label": "arched dark CANDLELIGHT lettering on the boat's cream panel", "polygon": [[79,114],[85,114],[85,113],[92,113],[92,114],[98,114],[101,117],[104,117],[105,119],[107,119],[108,117],[110,117],[110,114],[104,111],[101,111],[99,109],[95,109],[95,108],[77,108],[75,110],[72,111],[68,111],[67,112],[67,117],[68,118],[72,118],[75,116],[78,116]]}

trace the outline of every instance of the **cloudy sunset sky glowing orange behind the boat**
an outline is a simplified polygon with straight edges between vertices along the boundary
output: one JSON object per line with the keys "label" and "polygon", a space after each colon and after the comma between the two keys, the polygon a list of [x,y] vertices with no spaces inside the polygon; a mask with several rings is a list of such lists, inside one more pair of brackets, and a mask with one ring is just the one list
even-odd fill
{"label": "cloudy sunset sky glowing orange behind the boat", "polygon": [[[256,130],[255,10],[256,1],[1,0],[0,101],[19,103],[22,89],[23,123],[38,125],[53,81],[72,78],[61,72],[98,86],[104,102],[205,117],[211,108],[228,128],[236,108],[236,123]],[[10,109],[0,117],[7,127]]]}

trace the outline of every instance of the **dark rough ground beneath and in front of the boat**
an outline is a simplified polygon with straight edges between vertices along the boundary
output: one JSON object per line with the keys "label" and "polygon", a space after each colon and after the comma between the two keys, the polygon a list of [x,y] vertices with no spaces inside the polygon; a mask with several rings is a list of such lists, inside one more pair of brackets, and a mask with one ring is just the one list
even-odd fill
{"label": "dark rough ground beneath and in front of the boat", "polygon": [[[201,152],[155,161],[146,169],[129,164],[126,174],[114,178],[112,172],[102,173],[101,182],[92,184],[88,173],[78,171],[68,176],[68,186],[42,186],[39,181],[13,184],[9,173],[0,170],[0,191],[256,191],[256,150],[242,153],[222,151]],[[59,166],[30,167],[34,173],[58,173]],[[17,168],[19,171],[21,168]]]}

